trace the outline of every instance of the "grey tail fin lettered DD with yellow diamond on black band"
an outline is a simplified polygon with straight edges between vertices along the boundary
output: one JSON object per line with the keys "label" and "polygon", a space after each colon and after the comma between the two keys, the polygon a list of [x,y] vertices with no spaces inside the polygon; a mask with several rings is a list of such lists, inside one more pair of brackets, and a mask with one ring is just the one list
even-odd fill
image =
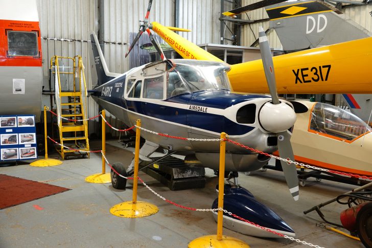
{"label": "grey tail fin lettered DD with yellow diamond on black band", "polygon": [[293,52],[372,36],[333,6],[321,1],[296,1],[266,7],[270,28],[283,50]]}

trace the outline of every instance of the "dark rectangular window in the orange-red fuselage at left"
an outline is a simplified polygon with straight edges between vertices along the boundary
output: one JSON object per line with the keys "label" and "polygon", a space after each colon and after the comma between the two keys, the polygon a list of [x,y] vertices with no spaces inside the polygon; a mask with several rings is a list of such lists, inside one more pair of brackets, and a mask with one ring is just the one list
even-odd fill
{"label": "dark rectangular window in the orange-red fuselage at left", "polygon": [[37,32],[10,31],[8,36],[8,56],[38,56]]}

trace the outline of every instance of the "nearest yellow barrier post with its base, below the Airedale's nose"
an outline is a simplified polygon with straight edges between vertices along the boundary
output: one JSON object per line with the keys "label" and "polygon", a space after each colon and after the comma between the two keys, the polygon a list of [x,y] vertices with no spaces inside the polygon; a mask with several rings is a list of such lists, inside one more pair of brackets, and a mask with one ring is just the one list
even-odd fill
{"label": "nearest yellow barrier post with its base, below the Airedale's nose", "polygon": [[[224,191],[224,181],[225,181],[225,153],[226,153],[226,136],[225,132],[221,132],[220,141],[220,168],[219,168],[219,179],[218,179],[218,208],[223,209],[223,191]],[[225,248],[225,247],[235,247],[235,248],[249,248],[250,246],[244,243],[242,240],[237,238],[222,236],[223,227],[223,211],[218,210],[217,215],[217,235],[207,235],[200,238],[196,238],[191,241],[188,245],[189,248]]]}

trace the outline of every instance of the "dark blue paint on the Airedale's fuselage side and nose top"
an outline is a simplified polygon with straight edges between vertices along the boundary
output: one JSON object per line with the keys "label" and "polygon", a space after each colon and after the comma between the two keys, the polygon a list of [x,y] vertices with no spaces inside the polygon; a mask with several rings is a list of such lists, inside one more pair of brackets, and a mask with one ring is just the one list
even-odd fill
{"label": "dark blue paint on the Airedale's fuselage side and nose top", "polygon": [[[124,79],[123,79],[124,78]],[[110,87],[115,82],[124,81],[125,77],[120,80],[113,80],[106,84],[106,87]],[[200,107],[213,107],[225,109],[229,106],[249,101],[257,98],[269,98],[264,95],[243,95],[237,93],[231,93],[226,90],[213,90],[213,91],[202,91],[190,94],[181,94],[178,96],[171,97],[159,103],[146,102],[146,99],[137,101],[135,99],[124,100],[124,85],[122,90],[117,93],[111,91],[111,97],[101,96],[103,87],[99,88],[99,96],[101,99],[121,106],[125,109],[137,112],[138,114],[146,115],[160,120],[178,123],[181,125],[187,125],[194,128],[200,128],[209,130],[212,132],[227,132],[230,136],[242,135],[254,129],[254,127],[241,125],[230,121],[222,115],[208,114],[206,112],[194,111],[189,109],[183,109],[178,107],[171,107],[162,105],[161,102],[174,102],[185,105],[193,105]],[[145,101],[144,101],[145,100]],[[222,113],[221,113],[222,114]]]}

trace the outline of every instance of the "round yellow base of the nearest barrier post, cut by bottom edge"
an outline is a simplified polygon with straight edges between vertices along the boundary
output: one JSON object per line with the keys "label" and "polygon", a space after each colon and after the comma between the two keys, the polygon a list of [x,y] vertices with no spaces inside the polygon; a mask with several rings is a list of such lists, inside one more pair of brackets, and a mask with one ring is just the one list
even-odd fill
{"label": "round yellow base of the nearest barrier post, cut by bottom edge", "polygon": [[217,240],[217,235],[207,235],[194,239],[189,243],[189,248],[225,248],[225,247],[243,247],[250,246],[237,238],[222,236],[222,240]]}

